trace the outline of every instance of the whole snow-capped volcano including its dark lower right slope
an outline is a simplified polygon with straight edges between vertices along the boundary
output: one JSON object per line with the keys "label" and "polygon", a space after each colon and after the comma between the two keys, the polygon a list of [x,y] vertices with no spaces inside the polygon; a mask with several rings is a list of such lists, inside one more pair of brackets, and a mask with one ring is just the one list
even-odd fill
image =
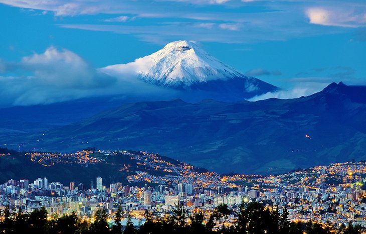
{"label": "whole snow-capped volcano including its dark lower right slope", "polygon": [[195,42],[179,40],[166,44],[150,55],[127,64],[101,68],[112,76],[137,76],[144,82],[179,90],[201,90],[214,96],[243,99],[277,87],[257,78],[246,76],[201,49]]}

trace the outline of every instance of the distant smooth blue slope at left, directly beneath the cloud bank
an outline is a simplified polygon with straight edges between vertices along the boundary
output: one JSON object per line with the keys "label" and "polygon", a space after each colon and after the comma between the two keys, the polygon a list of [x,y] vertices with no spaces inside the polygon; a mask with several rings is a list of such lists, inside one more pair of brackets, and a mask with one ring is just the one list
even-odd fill
{"label": "distant smooth blue slope at left, directly beneath the cloud bank", "polygon": [[0,136],[29,135],[64,126],[129,102],[131,99],[105,96],[52,104],[3,107],[0,108]]}

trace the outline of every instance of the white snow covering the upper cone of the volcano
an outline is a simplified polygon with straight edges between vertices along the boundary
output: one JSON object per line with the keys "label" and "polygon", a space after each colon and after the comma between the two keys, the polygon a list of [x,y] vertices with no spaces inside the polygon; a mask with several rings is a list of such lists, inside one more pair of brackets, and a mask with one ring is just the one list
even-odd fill
{"label": "white snow covering the upper cone of the volcano", "polygon": [[[195,42],[178,40],[127,64],[101,68],[111,75],[137,74],[146,82],[166,86],[190,86],[214,79],[246,77],[213,57]],[[249,77],[247,77],[250,79]]]}

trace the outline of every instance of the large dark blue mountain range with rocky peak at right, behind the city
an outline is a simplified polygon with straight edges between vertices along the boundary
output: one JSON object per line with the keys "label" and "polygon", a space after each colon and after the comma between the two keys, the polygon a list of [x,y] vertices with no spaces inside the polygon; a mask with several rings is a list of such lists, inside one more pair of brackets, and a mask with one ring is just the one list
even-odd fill
{"label": "large dark blue mountain range with rocky peak at right, behind the city", "polygon": [[144,149],[218,172],[277,173],[366,159],[366,86],[332,83],[306,97],[255,102],[137,102],[7,142]]}

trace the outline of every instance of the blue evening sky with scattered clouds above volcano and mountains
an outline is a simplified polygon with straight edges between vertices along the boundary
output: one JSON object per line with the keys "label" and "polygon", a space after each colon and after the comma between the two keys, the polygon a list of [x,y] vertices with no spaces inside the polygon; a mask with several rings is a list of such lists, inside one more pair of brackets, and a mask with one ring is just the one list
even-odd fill
{"label": "blue evening sky with scattered clouds above volcano and mountains", "polygon": [[[0,92],[8,104],[88,96],[86,89],[108,83],[93,69],[181,39],[287,90],[277,97],[333,81],[366,84],[364,0],[0,0],[0,17],[0,82],[7,87]],[[80,80],[65,81],[65,70]],[[59,87],[70,95],[45,92],[25,102],[24,89]]]}

